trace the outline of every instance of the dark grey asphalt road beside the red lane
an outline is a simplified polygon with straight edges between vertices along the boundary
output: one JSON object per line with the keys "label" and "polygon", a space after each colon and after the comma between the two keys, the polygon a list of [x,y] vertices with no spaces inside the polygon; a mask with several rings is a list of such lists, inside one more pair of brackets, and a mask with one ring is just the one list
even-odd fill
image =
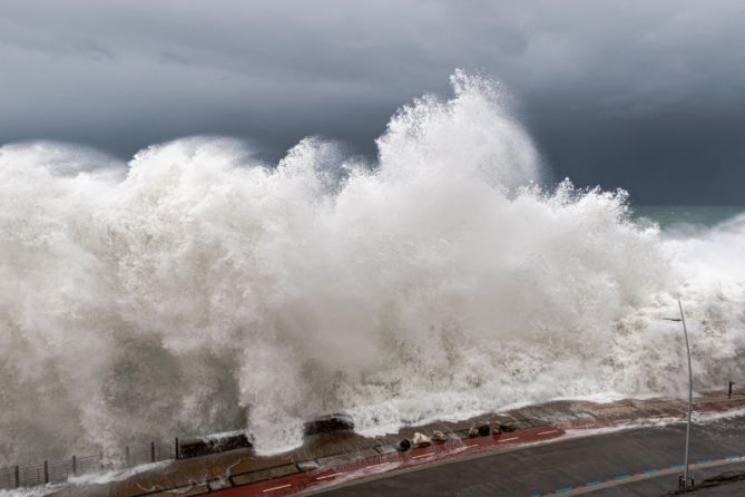
{"label": "dark grey asphalt road beside the red lane", "polygon": [[[612,487],[582,495],[663,496],[677,488],[677,470],[670,465],[683,459],[685,426],[644,428],[592,437],[565,439],[510,452],[482,456],[386,474],[371,480],[357,480],[323,494],[342,496],[519,496],[530,497],[556,493],[578,495],[568,490],[586,483],[615,480]],[[692,430],[692,461],[707,461],[745,455],[745,418],[733,418],[695,425]],[[634,481],[629,477],[654,469],[667,472]],[[745,471],[745,462],[727,464],[694,471],[703,481],[727,471]],[[626,481],[625,481],[626,480]],[[607,484],[606,484],[607,485]],[[700,496],[745,495],[745,484],[700,489]]]}

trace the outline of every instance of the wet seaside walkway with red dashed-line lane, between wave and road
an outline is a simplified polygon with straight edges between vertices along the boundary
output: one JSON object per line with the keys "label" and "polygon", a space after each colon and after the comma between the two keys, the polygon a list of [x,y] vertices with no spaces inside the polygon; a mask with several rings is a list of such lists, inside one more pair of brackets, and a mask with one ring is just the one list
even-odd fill
{"label": "wet seaside walkway with red dashed-line lane, between wave and road", "polygon": [[[695,410],[698,413],[745,410],[745,391],[736,393],[738,394],[733,399],[727,399],[723,392],[700,397],[696,401]],[[483,454],[509,452],[526,444],[561,440],[566,438],[566,430],[587,432],[582,430],[665,425],[682,420],[684,409],[682,401],[659,399],[626,400],[607,405],[584,401],[551,402],[462,422],[438,422],[406,428],[400,433],[381,438],[365,438],[354,433],[316,436],[310,438],[302,448],[275,457],[258,457],[248,449],[241,449],[177,460],[151,469],[145,468],[146,470],[121,481],[71,485],[56,495],[190,497],[218,494],[219,497],[237,497],[316,491],[352,479],[380,474],[408,474],[414,468],[459,460],[463,462]],[[514,431],[493,437],[467,436],[469,427],[473,425],[494,422],[509,426]],[[406,452],[395,450],[398,442],[402,438],[411,438],[414,431],[431,435],[435,429],[448,433],[448,442]],[[596,437],[587,440],[595,439]],[[611,454],[616,451],[612,447],[607,450]],[[726,456],[731,455],[712,454],[707,457]],[[526,465],[522,470],[529,468]]]}

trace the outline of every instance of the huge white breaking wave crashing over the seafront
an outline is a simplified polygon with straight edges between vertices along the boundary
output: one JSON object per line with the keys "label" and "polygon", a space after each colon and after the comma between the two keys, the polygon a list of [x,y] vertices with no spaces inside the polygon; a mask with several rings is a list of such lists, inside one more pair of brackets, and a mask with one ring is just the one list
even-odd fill
{"label": "huge white breaking wave crashing over the seafront", "polygon": [[745,218],[667,238],[624,192],[541,181],[487,79],[404,106],[375,164],[224,138],[128,164],[0,148],[0,464],[346,411],[366,433],[745,372]]}

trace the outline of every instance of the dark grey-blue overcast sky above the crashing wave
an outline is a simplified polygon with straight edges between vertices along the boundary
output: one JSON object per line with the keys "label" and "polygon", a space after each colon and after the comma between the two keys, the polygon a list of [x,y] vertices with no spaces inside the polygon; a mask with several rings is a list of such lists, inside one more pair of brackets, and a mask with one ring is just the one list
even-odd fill
{"label": "dark grey-blue overcast sky above the crashing wave", "polygon": [[3,0],[0,143],[185,135],[374,155],[454,68],[501,81],[557,177],[745,204],[742,0]]}

